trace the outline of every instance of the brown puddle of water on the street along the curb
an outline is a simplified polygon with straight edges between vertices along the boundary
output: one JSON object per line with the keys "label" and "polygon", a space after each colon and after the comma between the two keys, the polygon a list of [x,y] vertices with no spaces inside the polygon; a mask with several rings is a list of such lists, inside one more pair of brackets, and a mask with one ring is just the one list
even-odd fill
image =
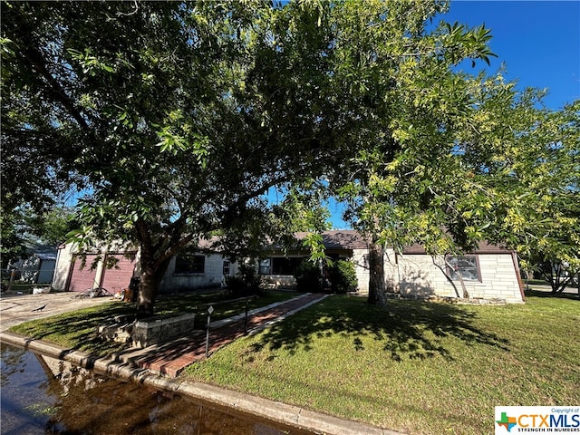
{"label": "brown puddle of water on the street along the curb", "polygon": [[2,344],[3,435],[306,435]]}

